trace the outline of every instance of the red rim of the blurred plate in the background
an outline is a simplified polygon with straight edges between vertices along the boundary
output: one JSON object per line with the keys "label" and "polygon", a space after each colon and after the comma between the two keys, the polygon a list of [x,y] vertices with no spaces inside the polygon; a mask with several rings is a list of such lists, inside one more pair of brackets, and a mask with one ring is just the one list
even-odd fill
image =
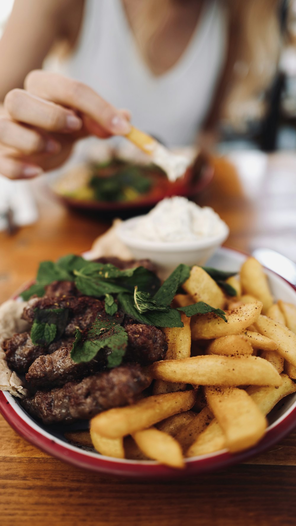
{"label": "red rim of the blurred plate in the background", "polygon": [[204,188],[206,188],[214,175],[214,169],[210,165],[205,165],[202,168],[201,175],[197,181],[196,184],[190,185],[190,184],[184,184],[180,185],[178,189],[172,187],[171,190],[165,191],[163,195],[160,195],[159,197],[147,197],[138,199],[135,201],[128,201],[127,203],[104,203],[101,201],[90,201],[90,200],[83,200],[83,199],[74,199],[73,197],[67,197],[62,194],[59,194],[57,191],[55,191],[52,187],[49,187],[50,191],[54,196],[64,203],[67,206],[73,207],[73,208],[81,208],[81,209],[88,209],[88,210],[132,210],[137,208],[150,208],[152,206],[155,206],[158,201],[161,199],[164,199],[165,197],[172,197],[173,195],[179,195],[182,197],[194,197],[198,193],[200,193]]}

